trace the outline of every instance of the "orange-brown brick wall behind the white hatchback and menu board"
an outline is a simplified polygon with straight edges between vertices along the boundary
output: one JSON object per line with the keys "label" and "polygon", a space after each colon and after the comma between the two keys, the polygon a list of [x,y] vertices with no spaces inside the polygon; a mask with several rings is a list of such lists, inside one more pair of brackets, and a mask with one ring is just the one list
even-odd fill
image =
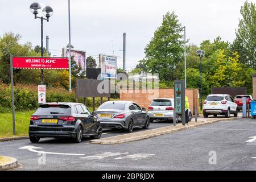
{"label": "orange-brown brick wall behind the white hatchback and menu board", "polygon": [[[193,113],[194,107],[199,105],[198,89],[186,89],[185,94],[188,96],[189,107]],[[174,88],[164,89],[134,89],[134,90],[120,90],[120,100],[137,102],[141,107],[150,105],[154,98],[174,98]]]}

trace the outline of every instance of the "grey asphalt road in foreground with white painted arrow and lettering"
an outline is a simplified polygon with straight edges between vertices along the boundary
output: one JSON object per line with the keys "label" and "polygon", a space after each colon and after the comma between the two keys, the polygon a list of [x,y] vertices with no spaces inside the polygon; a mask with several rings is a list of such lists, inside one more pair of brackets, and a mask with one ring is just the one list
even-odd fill
{"label": "grey asphalt road in foreground with white painted arrow and lettering", "polygon": [[[1,142],[0,154],[18,159],[17,170],[255,170],[254,136],[256,120],[243,118],[115,145],[90,144],[89,139]],[[31,145],[40,148],[19,149]]]}

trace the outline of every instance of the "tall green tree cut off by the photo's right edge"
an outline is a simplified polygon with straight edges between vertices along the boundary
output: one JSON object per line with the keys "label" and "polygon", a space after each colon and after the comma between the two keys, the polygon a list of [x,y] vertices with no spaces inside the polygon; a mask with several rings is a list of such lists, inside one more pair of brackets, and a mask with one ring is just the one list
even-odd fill
{"label": "tall green tree cut off by the photo's right edge", "polygon": [[240,63],[256,69],[256,9],[254,3],[247,1],[242,6],[236,30],[236,39],[232,44],[232,51],[238,52]]}

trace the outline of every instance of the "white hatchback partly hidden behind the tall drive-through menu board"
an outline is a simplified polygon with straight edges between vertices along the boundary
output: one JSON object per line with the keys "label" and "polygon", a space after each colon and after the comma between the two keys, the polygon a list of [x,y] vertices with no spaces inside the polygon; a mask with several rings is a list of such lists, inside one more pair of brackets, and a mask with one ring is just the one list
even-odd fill
{"label": "white hatchback partly hidden behind the tall drive-through menu board", "polygon": [[[148,116],[150,122],[154,120],[174,120],[174,98],[156,98],[148,107]],[[176,123],[179,122],[180,117],[176,117]],[[191,121],[192,113],[188,109],[188,121]]]}

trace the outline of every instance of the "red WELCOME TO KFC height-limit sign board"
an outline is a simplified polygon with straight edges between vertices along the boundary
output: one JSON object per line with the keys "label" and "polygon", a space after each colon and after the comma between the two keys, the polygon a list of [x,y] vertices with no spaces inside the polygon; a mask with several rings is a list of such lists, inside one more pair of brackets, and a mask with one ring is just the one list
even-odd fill
{"label": "red WELCOME TO KFC height-limit sign board", "polygon": [[13,57],[16,69],[68,69],[66,57]]}

